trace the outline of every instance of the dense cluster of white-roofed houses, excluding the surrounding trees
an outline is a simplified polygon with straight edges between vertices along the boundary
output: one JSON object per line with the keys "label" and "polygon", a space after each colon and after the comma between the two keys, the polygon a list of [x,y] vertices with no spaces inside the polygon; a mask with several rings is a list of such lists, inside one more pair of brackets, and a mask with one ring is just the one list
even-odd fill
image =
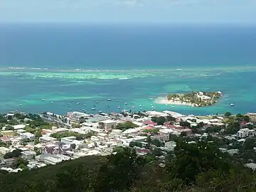
{"label": "dense cluster of white-roofed houses, excluding the surrounding trees", "polygon": [[[174,117],[173,122],[164,122],[159,125],[151,120],[151,117]],[[46,119],[54,121],[53,117],[60,117],[52,113],[44,115]],[[81,122],[81,119],[83,120]],[[166,118],[168,119],[168,118]],[[58,118],[59,121],[59,118]],[[118,129],[119,124],[125,122],[132,122],[136,125],[131,129]],[[62,126],[53,126],[51,129],[42,129],[42,136],[35,137],[25,131],[26,124],[18,124],[14,126],[14,130],[1,130],[1,142],[7,146],[0,147],[0,156],[14,151],[14,149],[21,150],[21,157],[28,160],[26,165],[28,169],[35,169],[48,164],[54,165],[61,161],[70,159],[77,159],[81,156],[101,155],[105,156],[111,154],[113,149],[117,146],[129,146],[131,142],[140,142],[142,147],[136,147],[137,154],[144,155],[150,150],[144,146],[147,144],[146,139],[150,136],[151,139],[157,139],[159,142],[165,142],[163,149],[173,150],[176,146],[175,142],[170,141],[170,135],[179,135],[182,132],[193,134],[191,128],[183,127],[180,122],[189,122],[191,127],[203,123],[203,129],[210,126],[223,127],[223,117],[216,118],[202,118],[193,115],[183,115],[177,112],[164,111],[148,111],[140,114],[119,114],[112,112],[111,114],[86,114],[83,112],[68,112],[63,117]],[[79,126],[73,127],[73,124]],[[157,129],[157,133],[150,130]],[[79,135],[91,134],[87,138],[78,138],[76,136],[68,136],[55,138],[52,134],[61,134],[65,132],[73,132]],[[237,134],[238,139],[250,137],[255,135],[254,129],[240,129]],[[23,139],[28,139],[24,145],[21,143]],[[34,141],[38,139],[37,144]],[[11,169],[15,159],[1,158],[0,168],[6,171],[18,171],[19,169]]]}

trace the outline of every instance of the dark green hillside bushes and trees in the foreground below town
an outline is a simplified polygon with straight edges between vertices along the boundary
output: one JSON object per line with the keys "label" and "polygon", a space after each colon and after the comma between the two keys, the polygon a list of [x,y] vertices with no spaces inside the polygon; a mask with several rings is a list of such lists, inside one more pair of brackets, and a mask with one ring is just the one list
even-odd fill
{"label": "dark green hillside bushes and trees in the foreground below town", "polygon": [[255,178],[215,144],[188,144],[178,137],[164,160],[121,148],[110,156],[87,156],[17,174],[1,171],[0,191],[256,191]]}

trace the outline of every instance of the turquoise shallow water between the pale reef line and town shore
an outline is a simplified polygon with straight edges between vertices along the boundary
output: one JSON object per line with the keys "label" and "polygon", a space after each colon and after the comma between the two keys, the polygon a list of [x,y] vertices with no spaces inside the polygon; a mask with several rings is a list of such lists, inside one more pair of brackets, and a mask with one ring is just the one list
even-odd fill
{"label": "turquoise shallow water between the pale reef line and town shore", "polygon": [[[92,112],[90,109],[94,107],[96,100],[98,103],[95,112],[123,110],[124,102],[128,102],[127,110],[139,110],[139,105],[142,105],[143,110],[150,110],[152,104],[156,110],[173,110],[183,114],[215,114],[226,111],[245,113],[255,112],[256,109],[256,67],[80,72],[2,69],[0,80],[1,112],[16,109],[26,112],[53,111],[60,114],[70,109]],[[201,108],[159,105],[149,99],[164,96],[168,92],[199,90],[220,90],[224,97],[214,106]],[[112,101],[107,102],[107,98],[112,98]],[[230,103],[234,103],[235,107],[230,107]],[[106,105],[111,106],[106,108]],[[117,106],[120,106],[120,110]]]}

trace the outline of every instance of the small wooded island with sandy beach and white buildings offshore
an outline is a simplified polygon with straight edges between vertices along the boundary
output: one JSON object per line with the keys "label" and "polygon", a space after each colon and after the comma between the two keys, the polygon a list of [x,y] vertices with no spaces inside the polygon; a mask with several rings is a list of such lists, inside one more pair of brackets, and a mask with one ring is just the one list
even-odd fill
{"label": "small wooded island with sandy beach and white buildings offshore", "polygon": [[214,105],[223,94],[218,92],[191,92],[183,94],[170,93],[166,97],[159,97],[156,102],[169,105],[188,105],[191,107],[205,107]]}

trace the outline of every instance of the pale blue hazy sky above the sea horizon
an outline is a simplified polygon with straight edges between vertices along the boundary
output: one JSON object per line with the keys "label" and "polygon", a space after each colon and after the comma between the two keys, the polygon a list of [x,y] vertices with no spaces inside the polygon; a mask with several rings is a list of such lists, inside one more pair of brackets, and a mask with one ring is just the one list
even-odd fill
{"label": "pale blue hazy sky above the sea horizon", "polygon": [[256,0],[0,0],[4,23],[256,23]]}

